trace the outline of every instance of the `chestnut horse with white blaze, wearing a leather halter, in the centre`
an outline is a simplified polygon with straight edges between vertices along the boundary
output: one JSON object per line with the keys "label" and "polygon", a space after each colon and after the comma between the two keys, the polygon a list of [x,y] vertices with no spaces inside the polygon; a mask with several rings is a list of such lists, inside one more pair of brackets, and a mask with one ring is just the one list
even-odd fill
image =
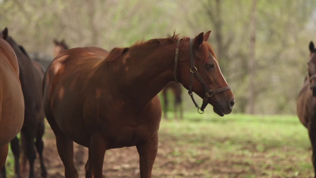
{"label": "chestnut horse with white blaze, wearing a leather halter, in the centre", "polygon": [[86,177],[103,177],[105,151],[125,146],[137,147],[140,176],[151,177],[161,120],[157,94],[175,79],[204,98],[201,108],[194,101],[201,112],[210,103],[221,116],[231,113],[234,95],[206,42],[209,35],[173,35],[109,54],[98,47],[59,54],[46,70],[43,93],[65,177],[78,177],[72,141],[89,148]]}

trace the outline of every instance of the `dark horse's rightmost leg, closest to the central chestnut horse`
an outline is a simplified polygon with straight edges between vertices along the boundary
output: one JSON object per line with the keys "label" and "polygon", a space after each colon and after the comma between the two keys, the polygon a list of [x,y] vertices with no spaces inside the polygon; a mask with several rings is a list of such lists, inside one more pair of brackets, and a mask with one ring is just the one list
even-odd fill
{"label": "dark horse's rightmost leg, closest to the central chestnut horse", "polygon": [[40,156],[41,176],[43,178],[46,178],[47,171],[46,171],[46,167],[44,165],[44,160],[43,160],[44,143],[42,140],[44,131],[45,131],[45,125],[44,125],[44,120],[43,120],[42,122],[39,123],[39,125],[37,127],[35,146],[36,146],[37,152],[39,153],[39,156]]}

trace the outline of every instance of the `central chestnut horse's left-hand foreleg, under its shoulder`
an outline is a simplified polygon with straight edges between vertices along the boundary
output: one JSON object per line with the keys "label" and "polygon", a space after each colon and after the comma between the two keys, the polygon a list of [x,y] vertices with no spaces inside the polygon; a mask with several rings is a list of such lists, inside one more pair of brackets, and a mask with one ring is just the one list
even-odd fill
{"label": "central chestnut horse's left-hand foreleg, under its shoulder", "polygon": [[92,166],[93,178],[103,178],[102,167],[104,154],[106,151],[106,142],[100,135],[92,135],[89,147],[89,159]]}

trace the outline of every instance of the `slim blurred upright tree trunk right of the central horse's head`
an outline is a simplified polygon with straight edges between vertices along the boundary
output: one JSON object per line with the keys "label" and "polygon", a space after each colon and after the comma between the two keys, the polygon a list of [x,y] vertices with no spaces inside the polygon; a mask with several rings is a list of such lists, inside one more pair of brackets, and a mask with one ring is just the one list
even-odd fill
{"label": "slim blurred upright tree trunk right of the central horse's head", "polygon": [[254,101],[255,101],[255,65],[256,65],[256,11],[257,11],[257,0],[252,1],[252,12],[250,15],[250,43],[249,43],[249,98],[248,98],[248,113],[254,114]]}

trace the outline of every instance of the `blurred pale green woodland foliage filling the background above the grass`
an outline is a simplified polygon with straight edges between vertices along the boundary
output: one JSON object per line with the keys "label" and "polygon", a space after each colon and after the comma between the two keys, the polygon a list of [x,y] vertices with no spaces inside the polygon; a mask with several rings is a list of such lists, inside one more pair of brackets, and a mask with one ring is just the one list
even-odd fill
{"label": "blurred pale green woodland foliage filling the background above the grass", "polygon": [[[212,30],[212,44],[236,97],[234,112],[247,111],[252,0],[94,0],[0,2],[0,29],[29,52],[52,54],[54,38],[70,47],[130,46],[173,33]],[[306,74],[308,43],[316,41],[316,1],[258,0],[255,43],[255,113],[294,114]],[[184,89],[184,93],[186,93]],[[184,96],[185,109],[195,109]]]}

